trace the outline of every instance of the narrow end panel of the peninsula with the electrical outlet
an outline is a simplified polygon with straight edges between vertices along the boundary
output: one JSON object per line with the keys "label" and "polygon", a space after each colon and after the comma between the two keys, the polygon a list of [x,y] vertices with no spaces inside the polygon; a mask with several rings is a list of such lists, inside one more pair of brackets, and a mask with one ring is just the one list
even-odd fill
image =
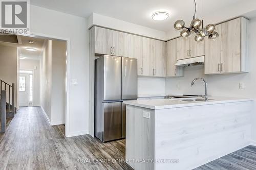
{"label": "narrow end panel of the peninsula with the electrical outlet", "polygon": [[[149,112],[150,118],[143,117],[143,111]],[[154,110],[126,105],[125,159],[135,170],[154,169],[154,163],[137,162],[154,160],[154,126]]]}

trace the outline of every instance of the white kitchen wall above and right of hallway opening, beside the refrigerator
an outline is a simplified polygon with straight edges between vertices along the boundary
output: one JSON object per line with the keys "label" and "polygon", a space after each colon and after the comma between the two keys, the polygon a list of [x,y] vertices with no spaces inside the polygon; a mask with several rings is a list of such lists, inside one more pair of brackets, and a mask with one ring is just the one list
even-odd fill
{"label": "white kitchen wall above and right of hallway opening, beside the refrigerator", "polygon": [[30,34],[69,40],[70,79],[66,135],[88,134],[89,30],[87,19],[31,5]]}

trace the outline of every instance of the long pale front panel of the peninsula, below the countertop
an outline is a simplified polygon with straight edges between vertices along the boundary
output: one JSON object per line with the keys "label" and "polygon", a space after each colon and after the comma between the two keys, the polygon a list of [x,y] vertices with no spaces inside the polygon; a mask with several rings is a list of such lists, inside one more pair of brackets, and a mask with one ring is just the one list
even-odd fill
{"label": "long pale front panel of the peninsula, below the countertop", "polygon": [[155,156],[179,159],[158,169],[193,169],[249,145],[251,102],[155,111]]}

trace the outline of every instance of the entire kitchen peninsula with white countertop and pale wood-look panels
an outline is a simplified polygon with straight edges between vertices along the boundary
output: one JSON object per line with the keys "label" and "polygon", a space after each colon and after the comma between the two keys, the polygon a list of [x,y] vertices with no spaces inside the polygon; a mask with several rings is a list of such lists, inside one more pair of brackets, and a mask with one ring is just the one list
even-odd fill
{"label": "entire kitchen peninsula with white countertop and pale wood-look panels", "polygon": [[188,170],[249,145],[251,100],[209,99],[125,101],[126,162],[135,170]]}

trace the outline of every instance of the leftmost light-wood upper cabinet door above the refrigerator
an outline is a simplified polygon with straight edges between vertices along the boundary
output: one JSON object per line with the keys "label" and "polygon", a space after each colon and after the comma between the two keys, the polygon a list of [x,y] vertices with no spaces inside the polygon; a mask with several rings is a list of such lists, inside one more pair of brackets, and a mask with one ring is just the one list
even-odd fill
{"label": "leftmost light-wood upper cabinet door above the refrigerator", "polygon": [[95,27],[95,53],[112,54],[113,30]]}

